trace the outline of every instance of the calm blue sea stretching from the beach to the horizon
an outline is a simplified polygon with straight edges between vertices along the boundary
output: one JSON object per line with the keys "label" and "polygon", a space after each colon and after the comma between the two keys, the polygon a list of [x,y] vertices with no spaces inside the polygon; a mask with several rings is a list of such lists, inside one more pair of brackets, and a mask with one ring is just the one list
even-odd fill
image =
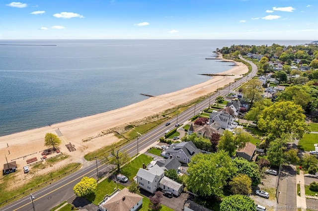
{"label": "calm blue sea stretching from the beach to the horizon", "polygon": [[[0,40],[0,136],[143,101],[230,69],[224,46],[273,40]],[[12,44],[12,45],[8,45]],[[24,46],[56,45],[56,46]]]}

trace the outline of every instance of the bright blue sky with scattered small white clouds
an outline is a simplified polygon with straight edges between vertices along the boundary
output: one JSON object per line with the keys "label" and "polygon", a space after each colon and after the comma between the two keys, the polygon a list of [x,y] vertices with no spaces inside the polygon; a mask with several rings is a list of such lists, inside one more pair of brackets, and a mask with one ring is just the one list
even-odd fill
{"label": "bright blue sky with scattered small white clouds", "polygon": [[318,0],[0,1],[0,39],[318,40]]}

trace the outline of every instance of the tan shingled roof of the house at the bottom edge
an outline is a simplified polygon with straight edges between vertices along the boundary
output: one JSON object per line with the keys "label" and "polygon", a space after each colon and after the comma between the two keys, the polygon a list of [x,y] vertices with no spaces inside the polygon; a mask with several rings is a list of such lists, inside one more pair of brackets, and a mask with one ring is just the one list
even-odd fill
{"label": "tan shingled roof of the house at the bottom edge", "polygon": [[107,211],[130,211],[141,199],[143,199],[142,196],[131,193],[127,188],[124,188],[110,197],[102,207]]}

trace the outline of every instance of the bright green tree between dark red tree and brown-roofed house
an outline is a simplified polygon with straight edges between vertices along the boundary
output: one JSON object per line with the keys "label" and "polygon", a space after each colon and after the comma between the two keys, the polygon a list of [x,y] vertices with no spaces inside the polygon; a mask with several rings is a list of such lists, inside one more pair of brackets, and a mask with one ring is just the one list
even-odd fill
{"label": "bright green tree between dark red tree and brown-roofed house", "polygon": [[237,149],[242,149],[245,144],[252,139],[251,135],[242,129],[235,130],[235,135],[231,131],[224,131],[220,138],[218,149],[224,150],[233,156]]}

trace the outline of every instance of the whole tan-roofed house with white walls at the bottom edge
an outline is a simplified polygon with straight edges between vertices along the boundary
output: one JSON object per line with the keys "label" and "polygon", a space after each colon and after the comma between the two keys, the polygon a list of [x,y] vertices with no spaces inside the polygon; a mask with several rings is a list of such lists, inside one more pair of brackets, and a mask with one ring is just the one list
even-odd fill
{"label": "whole tan-roofed house with white walls at the bottom edge", "polygon": [[129,192],[127,188],[117,189],[110,196],[106,195],[98,204],[100,211],[136,211],[143,205],[143,197]]}

